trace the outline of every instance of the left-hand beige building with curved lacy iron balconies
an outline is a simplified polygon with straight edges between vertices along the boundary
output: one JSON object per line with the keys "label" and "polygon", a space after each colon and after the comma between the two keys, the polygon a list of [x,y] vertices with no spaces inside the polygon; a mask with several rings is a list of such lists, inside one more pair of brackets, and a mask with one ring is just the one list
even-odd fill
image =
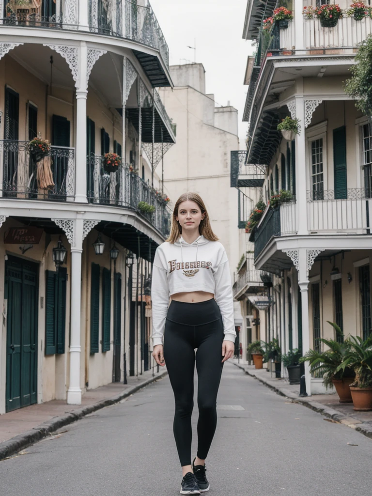
{"label": "left-hand beige building with curved lacy iron balconies", "polygon": [[0,12],[1,414],[80,404],[152,366],[151,262],[169,233],[153,156],[175,134],[147,0]]}

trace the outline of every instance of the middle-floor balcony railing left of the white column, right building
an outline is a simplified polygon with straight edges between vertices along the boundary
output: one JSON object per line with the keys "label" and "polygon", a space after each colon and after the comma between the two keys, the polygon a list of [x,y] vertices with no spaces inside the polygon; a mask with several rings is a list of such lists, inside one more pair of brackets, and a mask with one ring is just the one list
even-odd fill
{"label": "middle-floor balcony railing left of the white column, right building", "polygon": [[277,208],[269,207],[254,234],[254,258],[256,259],[273,237],[297,232],[296,203],[283,203]]}

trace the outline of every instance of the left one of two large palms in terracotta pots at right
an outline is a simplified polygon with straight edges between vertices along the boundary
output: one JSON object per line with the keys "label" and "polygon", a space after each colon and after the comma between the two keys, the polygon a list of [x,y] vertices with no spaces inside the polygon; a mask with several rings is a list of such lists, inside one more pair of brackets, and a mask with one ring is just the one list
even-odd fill
{"label": "left one of two large palms in terracotta pots at right", "polygon": [[[339,337],[344,337],[340,327],[334,322],[327,321],[336,331]],[[352,403],[352,397],[349,385],[355,380],[355,372],[350,367],[340,368],[344,363],[346,354],[350,350],[351,342],[345,339],[340,343],[334,339],[323,339],[319,341],[326,346],[326,351],[320,352],[310,350],[300,359],[301,362],[309,362],[310,373],[320,372],[323,374],[323,384],[326,389],[334,386],[339,396],[340,403]]]}

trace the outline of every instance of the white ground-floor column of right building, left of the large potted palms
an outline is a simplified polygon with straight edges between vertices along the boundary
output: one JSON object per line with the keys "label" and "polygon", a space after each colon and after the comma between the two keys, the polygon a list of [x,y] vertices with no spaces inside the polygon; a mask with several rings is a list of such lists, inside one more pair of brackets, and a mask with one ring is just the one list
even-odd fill
{"label": "white ground-floor column of right building, left of the large potted palms", "polygon": [[[299,286],[302,303],[302,353],[305,355],[310,350],[308,256],[305,248],[299,249]],[[305,381],[306,392],[310,396],[311,375],[309,362],[305,362]]]}

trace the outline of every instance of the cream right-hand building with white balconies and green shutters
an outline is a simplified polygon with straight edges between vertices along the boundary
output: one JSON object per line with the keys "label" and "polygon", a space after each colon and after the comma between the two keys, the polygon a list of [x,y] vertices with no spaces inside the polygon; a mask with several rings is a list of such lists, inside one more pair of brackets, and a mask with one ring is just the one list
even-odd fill
{"label": "cream right-hand building with white balconies and green shutters", "polygon": [[[327,321],[345,335],[369,335],[372,254],[371,127],[343,89],[371,19],[344,15],[323,27],[303,15],[306,6],[294,0],[293,20],[274,23],[268,38],[263,20],[275,2],[248,1],[244,38],[255,42],[255,54],[247,69],[247,152],[236,179],[263,173],[257,187],[266,205],[280,190],[291,198],[267,206],[249,239],[255,268],[269,274],[266,341],[278,337],[283,353],[299,347],[304,354],[320,349],[318,338],[336,338]],[[277,130],[286,116],[300,124],[289,140]],[[308,393],[321,380],[306,367]]]}

